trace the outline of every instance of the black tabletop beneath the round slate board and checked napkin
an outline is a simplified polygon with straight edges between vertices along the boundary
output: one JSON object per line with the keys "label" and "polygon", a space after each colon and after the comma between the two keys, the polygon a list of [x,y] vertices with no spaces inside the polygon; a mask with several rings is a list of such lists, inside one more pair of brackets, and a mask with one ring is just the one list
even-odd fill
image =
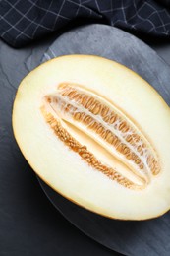
{"label": "black tabletop beneath the round slate board and checked napkin", "polygon": [[[22,49],[13,49],[0,41],[0,140],[7,141],[4,152],[8,147],[10,154],[16,153],[14,161],[8,161],[3,152],[0,156],[0,255],[120,255],[85,236],[48,201],[15,143],[11,113],[5,111],[5,104],[12,109],[18,85],[28,74],[26,61],[31,66],[34,56],[40,61],[56,37],[53,34]],[[170,65],[169,42],[144,40]],[[4,124],[11,127],[8,133]],[[10,146],[8,138],[13,140]],[[13,168],[16,161],[21,165],[17,172]],[[4,162],[6,165],[2,166]]]}

